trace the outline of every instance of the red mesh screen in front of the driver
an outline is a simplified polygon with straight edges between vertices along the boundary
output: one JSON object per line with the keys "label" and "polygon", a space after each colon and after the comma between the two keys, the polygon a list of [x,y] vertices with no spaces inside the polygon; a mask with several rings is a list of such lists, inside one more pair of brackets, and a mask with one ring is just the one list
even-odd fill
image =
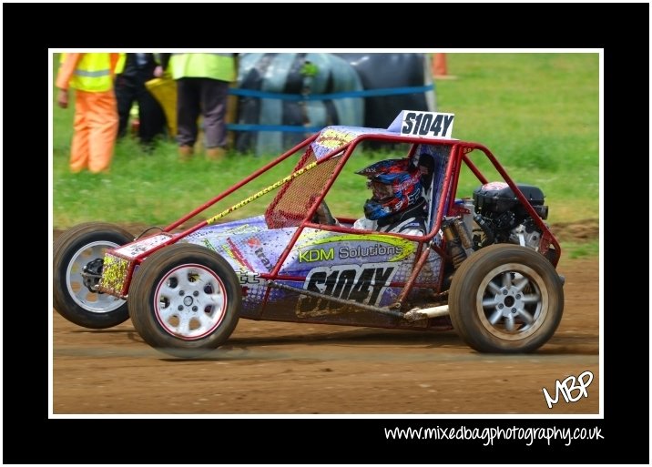
{"label": "red mesh screen in front of the driver", "polygon": [[[315,198],[321,194],[327,181],[332,177],[339,160],[339,157],[332,157],[286,183],[265,211],[268,228],[299,226],[312,207]],[[312,155],[303,157],[295,170],[313,161]]]}

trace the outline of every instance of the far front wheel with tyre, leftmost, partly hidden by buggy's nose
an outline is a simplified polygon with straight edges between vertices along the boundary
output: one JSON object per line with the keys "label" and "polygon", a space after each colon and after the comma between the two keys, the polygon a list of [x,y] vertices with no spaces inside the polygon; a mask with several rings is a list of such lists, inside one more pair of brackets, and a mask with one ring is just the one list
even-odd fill
{"label": "far front wheel with tyre, leftmost, partly hidden by buggy's nose", "polygon": [[88,222],[66,230],[55,242],[53,301],[66,320],[94,330],[112,328],[129,318],[127,301],[93,292],[84,285],[82,269],[103,259],[107,249],[133,241],[124,228],[103,222]]}

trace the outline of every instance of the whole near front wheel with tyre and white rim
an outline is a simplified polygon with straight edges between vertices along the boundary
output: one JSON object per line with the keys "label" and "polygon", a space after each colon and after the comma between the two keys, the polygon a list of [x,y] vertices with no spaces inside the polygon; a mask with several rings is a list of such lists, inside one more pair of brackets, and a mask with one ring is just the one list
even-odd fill
{"label": "whole near front wheel with tyre and white rim", "polygon": [[134,328],[149,345],[197,357],[223,344],[238,324],[241,289],[229,263],[188,243],[145,259],[128,296]]}

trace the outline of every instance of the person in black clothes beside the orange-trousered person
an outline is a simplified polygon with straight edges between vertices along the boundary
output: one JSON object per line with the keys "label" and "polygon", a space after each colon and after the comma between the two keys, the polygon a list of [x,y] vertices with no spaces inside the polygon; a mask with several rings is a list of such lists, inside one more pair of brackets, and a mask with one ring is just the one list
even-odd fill
{"label": "person in black clothes beside the orange-trousered person", "polygon": [[[138,103],[138,139],[146,150],[151,150],[156,137],[166,135],[166,117],[158,100],[145,83],[160,76],[160,65],[154,54],[121,54],[123,66],[116,73],[116,98],[119,124],[117,137],[127,135],[127,125],[134,102]],[[158,68],[158,72],[157,72]]]}

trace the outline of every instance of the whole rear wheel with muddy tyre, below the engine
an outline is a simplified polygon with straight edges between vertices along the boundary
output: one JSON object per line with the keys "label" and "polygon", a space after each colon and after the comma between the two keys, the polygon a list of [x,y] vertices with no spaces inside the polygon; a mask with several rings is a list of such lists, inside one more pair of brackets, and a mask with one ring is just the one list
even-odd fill
{"label": "whole rear wheel with muddy tyre, below the engine", "polygon": [[474,350],[529,352],[559,326],[564,289],[553,265],[535,250],[491,245],[455,271],[448,305],[454,329]]}

